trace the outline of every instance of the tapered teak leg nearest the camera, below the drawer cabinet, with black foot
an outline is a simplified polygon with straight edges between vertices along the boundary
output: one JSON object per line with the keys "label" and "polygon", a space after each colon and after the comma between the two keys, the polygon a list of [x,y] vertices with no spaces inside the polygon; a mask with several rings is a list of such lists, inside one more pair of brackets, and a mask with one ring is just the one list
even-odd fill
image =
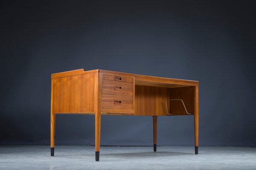
{"label": "tapered teak leg nearest the camera, below the drawer cabinet, with black foot", "polygon": [[95,113],[95,161],[99,161],[100,121],[101,114]]}

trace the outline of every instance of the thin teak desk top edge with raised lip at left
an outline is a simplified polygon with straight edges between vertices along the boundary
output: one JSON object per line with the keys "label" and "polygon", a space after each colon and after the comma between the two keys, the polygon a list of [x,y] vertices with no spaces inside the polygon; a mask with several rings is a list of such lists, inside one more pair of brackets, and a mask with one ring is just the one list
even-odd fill
{"label": "thin teak desk top edge with raised lip at left", "polygon": [[172,81],[177,81],[177,82],[181,81],[181,82],[189,82],[189,83],[198,84],[198,81],[195,81],[195,80],[185,80],[185,79],[173,79],[173,78],[166,78],[166,77],[146,76],[146,75],[141,75],[141,74],[123,73],[123,72],[118,72],[118,71],[108,71],[108,70],[102,70],[102,69],[89,70],[89,71],[84,71],[84,69],[65,71],[65,72],[52,74],[52,79],[59,78],[59,77],[67,77],[67,76],[72,76],[72,75],[77,75],[77,74],[95,73],[95,72],[129,75],[129,76],[134,76],[135,79],[151,78],[151,79],[172,80]]}

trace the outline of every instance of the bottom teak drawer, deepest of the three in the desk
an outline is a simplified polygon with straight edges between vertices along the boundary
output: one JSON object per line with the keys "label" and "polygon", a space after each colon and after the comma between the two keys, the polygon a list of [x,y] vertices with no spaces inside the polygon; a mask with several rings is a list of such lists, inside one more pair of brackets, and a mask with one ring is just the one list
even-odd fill
{"label": "bottom teak drawer, deepest of the three in the desk", "polygon": [[102,94],[102,108],[133,109],[133,96]]}

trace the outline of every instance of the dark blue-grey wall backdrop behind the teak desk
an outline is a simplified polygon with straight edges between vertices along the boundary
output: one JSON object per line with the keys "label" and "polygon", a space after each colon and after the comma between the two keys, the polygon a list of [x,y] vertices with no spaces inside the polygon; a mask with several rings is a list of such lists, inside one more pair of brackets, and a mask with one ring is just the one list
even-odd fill
{"label": "dark blue-grey wall backdrop behind the teak desk", "polygon": [[[49,144],[51,74],[84,68],[198,80],[199,145],[256,146],[255,1],[1,1],[0,144]],[[158,145],[193,145],[193,116]],[[102,116],[102,145],[152,145],[152,117]],[[56,144],[94,144],[57,115]]]}

